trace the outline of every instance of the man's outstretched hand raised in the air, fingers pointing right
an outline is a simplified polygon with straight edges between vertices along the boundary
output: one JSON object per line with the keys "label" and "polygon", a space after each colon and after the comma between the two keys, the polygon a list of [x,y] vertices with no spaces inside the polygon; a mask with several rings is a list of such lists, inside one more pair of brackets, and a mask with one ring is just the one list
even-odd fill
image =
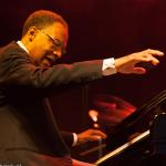
{"label": "man's outstretched hand raised in the air, fingers pointing right", "polygon": [[132,53],[129,55],[122,56],[115,60],[115,66],[117,72],[124,74],[144,74],[146,69],[142,66],[135,66],[139,62],[149,62],[153,65],[157,65],[159,61],[155,56],[163,56],[164,53],[158,50],[147,49],[145,51]]}

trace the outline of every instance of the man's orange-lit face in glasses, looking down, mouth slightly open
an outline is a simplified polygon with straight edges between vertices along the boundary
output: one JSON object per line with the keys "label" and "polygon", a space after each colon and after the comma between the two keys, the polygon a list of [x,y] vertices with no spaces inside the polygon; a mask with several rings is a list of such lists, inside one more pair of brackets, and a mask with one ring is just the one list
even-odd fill
{"label": "man's orange-lit face in glasses, looking down, mouth slightly open", "polygon": [[68,29],[61,23],[54,23],[42,30],[35,29],[35,31],[30,54],[35,65],[52,66],[65,52]]}

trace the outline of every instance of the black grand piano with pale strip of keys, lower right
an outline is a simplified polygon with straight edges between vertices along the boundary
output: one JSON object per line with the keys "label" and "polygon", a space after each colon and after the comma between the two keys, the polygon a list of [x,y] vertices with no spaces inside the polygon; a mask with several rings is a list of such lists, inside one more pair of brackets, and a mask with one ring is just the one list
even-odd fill
{"label": "black grand piano with pale strip of keys, lower right", "polygon": [[106,139],[98,166],[166,166],[166,91],[137,108]]}

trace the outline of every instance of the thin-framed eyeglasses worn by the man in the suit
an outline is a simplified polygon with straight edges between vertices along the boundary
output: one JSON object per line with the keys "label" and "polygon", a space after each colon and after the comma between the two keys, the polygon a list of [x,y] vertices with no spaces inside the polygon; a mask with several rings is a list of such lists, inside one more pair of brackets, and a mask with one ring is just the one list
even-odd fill
{"label": "thin-framed eyeglasses worn by the man in the suit", "polygon": [[55,48],[60,48],[61,49],[61,51],[62,51],[62,54],[65,54],[66,53],[66,50],[65,50],[65,48],[64,48],[64,45],[63,45],[63,43],[62,43],[62,41],[60,40],[60,39],[53,39],[52,37],[50,37],[48,33],[45,33],[45,32],[43,32],[43,31],[41,31],[43,34],[45,34],[51,41],[52,41],[52,43],[53,43],[53,45],[55,46]]}

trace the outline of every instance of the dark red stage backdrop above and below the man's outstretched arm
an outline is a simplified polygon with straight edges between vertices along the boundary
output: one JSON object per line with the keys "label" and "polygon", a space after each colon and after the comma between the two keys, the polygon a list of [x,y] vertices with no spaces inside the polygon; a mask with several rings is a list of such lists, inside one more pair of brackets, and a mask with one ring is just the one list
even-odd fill
{"label": "dark red stage backdrop above and below the man's outstretched arm", "polygon": [[[68,54],[62,62],[118,58],[144,49],[166,52],[165,0],[6,0],[0,6],[0,45],[21,38],[27,17],[38,9],[61,14],[69,23]],[[96,94],[113,94],[139,107],[166,86],[166,60],[145,75],[112,75],[51,97],[61,128],[89,127]]]}

